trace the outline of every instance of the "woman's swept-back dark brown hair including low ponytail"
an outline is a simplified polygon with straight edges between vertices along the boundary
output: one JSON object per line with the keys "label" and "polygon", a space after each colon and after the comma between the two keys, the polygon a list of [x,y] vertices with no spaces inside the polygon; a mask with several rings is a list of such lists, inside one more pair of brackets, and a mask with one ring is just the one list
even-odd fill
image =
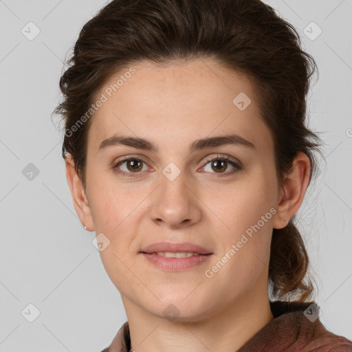
{"label": "woman's swept-back dark brown hair including low ponytail", "polygon": [[[260,0],[113,0],[83,26],[60,80],[64,100],[54,110],[65,120],[63,157],[72,155],[83,186],[91,118],[77,122],[102,85],[137,61],[186,58],[215,58],[250,78],[272,132],[279,184],[299,152],[311,161],[310,183],[321,140],[306,126],[306,97],[318,67],[291,24]],[[293,220],[272,232],[269,283],[274,296],[304,301],[314,287]]]}

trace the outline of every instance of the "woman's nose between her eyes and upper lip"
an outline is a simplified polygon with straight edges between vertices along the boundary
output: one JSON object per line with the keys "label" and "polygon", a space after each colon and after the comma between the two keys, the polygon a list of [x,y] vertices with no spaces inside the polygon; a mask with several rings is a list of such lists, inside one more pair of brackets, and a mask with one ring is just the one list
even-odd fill
{"label": "woman's nose between her eyes and upper lip", "polygon": [[201,219],[201,200],[197,196],[195,182],[181,172],[175,179],[160,175],[155,190],[151,217],[157,225],[170,228],[190,226]]}

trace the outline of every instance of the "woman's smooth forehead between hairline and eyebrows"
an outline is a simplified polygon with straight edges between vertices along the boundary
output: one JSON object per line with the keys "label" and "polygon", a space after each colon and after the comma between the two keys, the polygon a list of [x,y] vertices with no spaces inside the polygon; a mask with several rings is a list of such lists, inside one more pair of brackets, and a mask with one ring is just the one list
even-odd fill
{"label": "woman's smooth forehead between hairline and eyebrows", "polygon": [[96,97],[102,95],[89,130],[94,148],[114,133],[195,140],[232,132],[270,142],[250,79],[211,59],[135,63],[113,74]]}

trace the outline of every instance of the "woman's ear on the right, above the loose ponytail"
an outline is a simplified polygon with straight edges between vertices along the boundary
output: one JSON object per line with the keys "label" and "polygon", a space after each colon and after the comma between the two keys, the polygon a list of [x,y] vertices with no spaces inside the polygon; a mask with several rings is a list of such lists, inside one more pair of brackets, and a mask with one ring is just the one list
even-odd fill
{"label": "woman's ear on the right, above the loose ponytail", "polygon": [[283,188],[278,196],[278,206],[273,228],[285,228],[300,208],[309,184],[311,163],[305,153],[298,153],[293,161],[292,171],[285,175]]}

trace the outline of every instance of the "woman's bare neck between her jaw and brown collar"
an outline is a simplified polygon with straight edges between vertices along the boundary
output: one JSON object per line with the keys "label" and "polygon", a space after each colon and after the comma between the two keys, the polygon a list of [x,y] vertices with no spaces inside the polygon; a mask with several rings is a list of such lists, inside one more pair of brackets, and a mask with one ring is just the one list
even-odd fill
{"label": "woman's bare neck between her jaw and brown collar", "polygon": [[224,311],[192,321],[170,321],[155,316],[122,296],[131,334],[131,349],[137,352],[233,352],[267,325],[274,316],[267,295],[246,294]]}

